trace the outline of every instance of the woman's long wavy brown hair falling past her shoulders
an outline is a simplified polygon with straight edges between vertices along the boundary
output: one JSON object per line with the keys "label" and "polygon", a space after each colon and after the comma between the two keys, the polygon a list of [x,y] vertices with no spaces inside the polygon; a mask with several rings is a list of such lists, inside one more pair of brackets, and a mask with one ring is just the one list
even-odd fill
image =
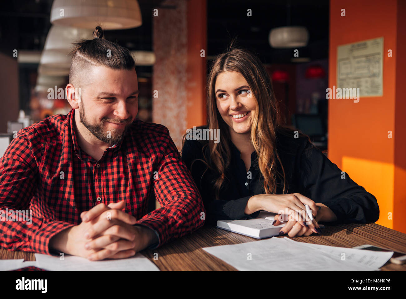
{"label": "woman's long wavy brown hair falling past her shoulders", "polygon": [[[215,85],[217,76],[225,71],[239,72],[244,76],[256,99],[255,113],[251,127],[251,142],[258,157],[258,166],[263,177],[263,188],[266,194],[276,192],[276,177],[283,179],[285,193],[285,170],[276,151],[276,128],[281,126],[279,106],[272,89],[272,82],[261,61],[247,50],[231,49],[216,56],[207,82],[207,110],[209,129],[220,129],[220,142],[209,140],[210,157],[205,157],[206,164],[219,173],[214,182],[216,199],[219,199],[220,188],[224,183],[225,170],[230,163],[229,126],[224,122],[216,105]],[[276,169],[279,161],[282,174]]]}

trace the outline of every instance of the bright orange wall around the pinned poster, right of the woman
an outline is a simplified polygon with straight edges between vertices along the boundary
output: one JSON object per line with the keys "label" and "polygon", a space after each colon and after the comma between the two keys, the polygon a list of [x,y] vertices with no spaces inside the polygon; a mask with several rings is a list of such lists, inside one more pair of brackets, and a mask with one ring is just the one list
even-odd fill
{"label": "bright orange wall around the pinned poster, right of the woman", "polygon": [[[405,110],[399,111],[402,102],[399,88],[405,80],[402,70],[397,70],[397,59],[406,55],[406,48],[397,45],[402,40],[398,32],[399,12],[402,0],[331,0],[328,87],[337,86],[337,46],[378,37],[384,38],[383,49],[383,96],[361,97],[359,103],[352,100],[329,100],[328,157],[339,168],[368,192],[374,194],[380,206],[378,224],[406,233],[403,218],[405,202],[404,184],[397,182],[404,177],[405,133],[395,129],[405,125]],[[346,16],[341,17],[341,9]],[[402,20],[404,23],[404,20]],[[404,31],[404,29],[402,29]],[[403,35],[404,37],[405,35]],[[404,44],[404,40],[402,40]],[[387,50],[393,50],[393,57]],[[396,52],[397,51],[397,52]],[[404,69],[403,69],[404,70]],[[404,83],[403,83],[404,85]],[[397,88],[398,89],[397,89]],[[401,103],[404,108],[404,101]],[[393,138],[388,138],[388,131]],[[403,138],[399,143],[397,138]],[[403,150],[402,150],[403,146]],[[395,155],[403,151],[403,157]],[[397,161],[403,162],[395,170]],[[403,159],[403,160],[402,160]],[[402,161],[401,161],[402,160]],[[403,172],[402,172],[403,171]],[[395,182],[397,182],[395,184]],[[403,205],[401,201],[403,200]],[[388,219],[388,213],[392,219]],[[396,221],[394,221],[396,219]]]}

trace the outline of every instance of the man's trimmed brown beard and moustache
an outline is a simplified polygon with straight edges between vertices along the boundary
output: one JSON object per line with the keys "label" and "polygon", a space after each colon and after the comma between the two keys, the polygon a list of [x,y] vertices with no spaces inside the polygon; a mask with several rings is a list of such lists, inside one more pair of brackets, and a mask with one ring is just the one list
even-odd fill
{"label": "man's trimmed brown beard and moustache", "polygon": [[[93,134],[95,135],[99,140],[106,142],[108,144],[110,144],[110,146],[114,145],[114,144],[118,144],[119,142],[121,142],[121,140],[123,140],[123,138],[125,137],[125,135],[127,135],[128,133],[128,129],[129,129],[129,124],[128,121],[125,122],[124,124],[124,130],[123,129],[116,129],[116,128],[111,128],[110,130],[110,134],[108,133],[108,131],[106,131],[106,129],[104,128],[104,123],[107,120],[102,120],[101,124],[91,124],[89,122],[87,122],[86,117],[85,117],[85,113],[84,113],[84,105],[82,103],[82,105],[79,106],[79,116],[80,116],[80,121],[82,122],[82,124]],[[118,123],[118,121],[115,121]]]}

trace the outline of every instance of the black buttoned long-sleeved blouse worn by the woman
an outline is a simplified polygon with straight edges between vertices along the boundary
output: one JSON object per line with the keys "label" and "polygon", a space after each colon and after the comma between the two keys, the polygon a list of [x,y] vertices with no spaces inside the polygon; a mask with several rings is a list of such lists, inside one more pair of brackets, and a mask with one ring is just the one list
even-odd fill
{"label": "black buttoned long-sleeved blouse worn by the woman", "polygon": [[[230,142],[231,162],[226,170],[226,180],[220,189],[220,199],[214,194],[214,180],[219,176],[213,170],[195,159],[203,159],[203,146],[207,140],[186,140],[182,159],[192,172],[194,181],[201,193],[206,209],[206,224],[216,224],[217,220],[250,219],[244,213],[248,199],[256,194],[264,194],[263,177],[257,164],[257,154],[251,154],[251,167],[246,172],[240,159],[240,151]],[[379,207],[376,198],[363,187],[358,186],[349,175],[345,178],[336,164],[331,162],[307,137],[294,138],[294,135],[278,132],[276,150],[281,159],[286,176],[286,193],[298,192],[315,203],[323,203],[337,216],[338,223],[376,222]],[[209,157],[208,145],[204,147]],[[277,169],[281,171],[280,164]],[[283,180],[276,179],[276,194],[283,194]]]}

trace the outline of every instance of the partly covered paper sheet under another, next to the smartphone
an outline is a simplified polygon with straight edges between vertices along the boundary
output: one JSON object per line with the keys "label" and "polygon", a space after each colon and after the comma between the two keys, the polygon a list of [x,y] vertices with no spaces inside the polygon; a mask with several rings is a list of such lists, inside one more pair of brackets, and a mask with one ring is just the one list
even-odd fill
{"label": "partly covered paper sheet under another, next to the smartphone", "polygon": [[[296,242],[289,238],[283,238],[283,240],[288,242]],[[298,242],[296,242],[298,243]],[[391,252],[379,252],[379,251],[372,251],[372,250],[362,250],[362,249],[354,249],[354,248],[346,248],[346,247],[333,247],[327,245],[319,245],[319,244],[310,244],[310,243],[303,243],[301,244],[316,248],[321,251],[324,251],[332,256],[332,258],[336,259],[337,261],[349,261],[353,264],[358,264],[361,266],[367,266],[375,269],[382,267],[393,255],[393,251]]]}

